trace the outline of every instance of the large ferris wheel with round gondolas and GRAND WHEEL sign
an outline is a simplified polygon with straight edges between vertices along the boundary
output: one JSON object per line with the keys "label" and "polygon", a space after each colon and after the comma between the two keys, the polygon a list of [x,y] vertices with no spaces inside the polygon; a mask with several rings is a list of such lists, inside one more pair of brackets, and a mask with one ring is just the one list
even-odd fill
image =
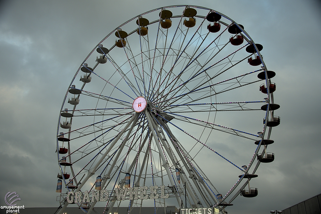
{"label": "large ferris wheel with round gondolas and GRAND WHEEL sign", "polygon": [[245,27],[209,8],[176,5],[101,40],[61,107],[58,213],[70,203],[85,213],[99,204],[104,213],[166,213],[166,205],[224,213],[238,195],[257,196],[249,182],[274,160],[266,148],[280,106],[275,73]]}

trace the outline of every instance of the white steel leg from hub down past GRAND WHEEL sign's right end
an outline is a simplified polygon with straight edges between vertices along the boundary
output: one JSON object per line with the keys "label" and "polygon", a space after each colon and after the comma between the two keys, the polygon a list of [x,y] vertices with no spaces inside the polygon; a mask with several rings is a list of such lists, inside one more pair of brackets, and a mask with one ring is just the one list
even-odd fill
{"label": "white steel leg from hub down past GRAND WHEEL sign's right end", "polygon": [[[154,140],[155,140],[156,146],[157,146],[158,151],[159,151],[159,153],[160,153],[160,157],[161,157],[161,159],[162,159],[162,161],[163,161],[163,164],[162,164],[162,165],[163,165],[163,167],[165,168],[166,173],[167,173],[167,175],[168,175],[168,177],[169,177],[170,184],[171,184],[172,186],[175,186],[175,183],[174,183],[174,181],[173,181],[173,178],[171,177],[171,173],[170,173],[170,170],[169,170],[169,164],[168,164],[167,161],[166,161],[166,158],[165,158],[165,156],[164,156],[164,154],[163,154],[163,151],[162,151],[162,149],[161,149],[161,147],[160,147],[160,143],[159,143],[159,141],[158,141],[158,139],[157,139],[157,135],[156,135],[156,133],[155,133],[155,130],[157,130],[157,127],[156,127],[155,124],[153,123],[153,121],[152,121],[152,119],[151,119],[151,117],[150,117],[150,114],[149,114],[149,112],[148,112],[147,110],[145,110],[145,114],[146,114],[146,117],[147,117],[147,120],[148,120],[148,125],[149,125],[150,129],[152,130],[152,133],[153,133],[153,136],[154,136]],[[154,127],[155,127],[155,130],[154,130]],[[177,199],[178,205],[179,205],[179,207],[181,208],[181,206],[182,206],[182,205],[181,205],[181,204],[182,204],[181,199],[180,199],[179,195],[177,194],[177,192],[175,192],[175,195],[176,195],[176,199]]]}

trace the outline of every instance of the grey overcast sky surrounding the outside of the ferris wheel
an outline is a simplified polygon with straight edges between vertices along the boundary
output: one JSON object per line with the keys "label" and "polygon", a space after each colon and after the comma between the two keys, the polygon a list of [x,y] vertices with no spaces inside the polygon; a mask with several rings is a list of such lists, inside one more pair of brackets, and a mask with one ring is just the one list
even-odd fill
{"label": "grey overcast sky surrounding the outside of the ferris wheel", "polygon": [[26,207],[59,206],[56,127],[74,73],[117,26],[175,4],[212,8],[244,25],[276,72],[276,158],[257,171],[259,195],[238,197],[229,214],[282,210],[321,192],[320,1],[11,0],[0,1],[0,205],[16,191]]}

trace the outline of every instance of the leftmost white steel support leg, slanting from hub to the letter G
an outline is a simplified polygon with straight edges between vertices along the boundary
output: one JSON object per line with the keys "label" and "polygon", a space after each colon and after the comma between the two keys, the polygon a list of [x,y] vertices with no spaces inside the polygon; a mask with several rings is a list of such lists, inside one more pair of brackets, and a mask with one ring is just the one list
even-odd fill
{"label": "leftmost white steel support leg, slanting from hub to the letter G", "polygon": [[[96,165],[89,170],[87,176],[85,177],[85,179],[83,180],[83,182],[78,186],[78,188],[74,191],[80,191],[80,189],[82,188],[82,186],[88,181],[88,179],[95,174],[97,167],[100,165],[100,163],[105,159],[105,157],[108,155],[108,153],[110,152],[110,150],[115,146],[115,144],[117,143],[117,141],[119,140],[119,138],[125,133],[125,131],[128,129],[129,125],[134,121],[134,119],[138,118],[139,113],[136,113],[131,119],[130,121],[126,124],[126,126],[124,127],[124,129],[118,134],[118,136],[114,139],[114,141],[112,142],[112,144],[108,147],[107,151],[104,153],[103,156],[101,156],[100,160],[96,163]],[[59,212],[57,214],[62,214],[62,212],[65,210],[65,208],[68,206],[68,202],[65,203],[65,205],[59,210]]]}

